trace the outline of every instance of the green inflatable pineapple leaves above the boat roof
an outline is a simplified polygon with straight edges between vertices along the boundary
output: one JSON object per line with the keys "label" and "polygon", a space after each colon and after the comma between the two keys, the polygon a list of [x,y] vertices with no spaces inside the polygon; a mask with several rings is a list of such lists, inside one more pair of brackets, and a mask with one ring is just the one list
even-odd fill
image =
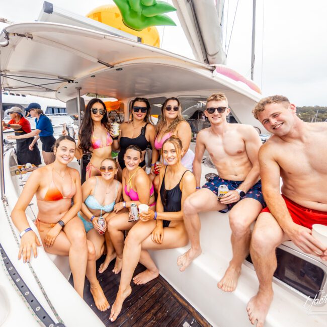
{"label": "green inflatable pineapple leaves above the boat roof", "polygon": [[150,26],[171,25],[174,21],[165,15],[176,9],[162,1],[156,0],[114,0],[119,8],[124,24],[136,31]]}

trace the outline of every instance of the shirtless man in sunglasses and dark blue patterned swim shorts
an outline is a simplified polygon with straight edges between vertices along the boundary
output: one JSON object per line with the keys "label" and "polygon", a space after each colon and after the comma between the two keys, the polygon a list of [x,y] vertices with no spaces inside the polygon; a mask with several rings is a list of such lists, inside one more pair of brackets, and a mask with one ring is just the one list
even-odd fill
{"label": "shirtless man in sunglasses and dark blue patterned swim shorts", "polygon": [[[218,287],[232,292],[237,285],[241,265],[249,253],[250,225],[264,206],[261,182],[259,181],[258,151],[261,140],[250,125],[229,124],[228,101],[223,93],[213,94],[207,99],[204,111],[211,127],[199,132],[193,173],[197,192],[184,202],[184,223],[188,231],[191,249],[178,258],[178,265],[184,271],[201,254],[199,212],[229,212],[233,258]],[[205,149],[210,153],[219,177],[200,188],[201,160]],[[227,185],[228,193],[217,201],[219,185]]]}

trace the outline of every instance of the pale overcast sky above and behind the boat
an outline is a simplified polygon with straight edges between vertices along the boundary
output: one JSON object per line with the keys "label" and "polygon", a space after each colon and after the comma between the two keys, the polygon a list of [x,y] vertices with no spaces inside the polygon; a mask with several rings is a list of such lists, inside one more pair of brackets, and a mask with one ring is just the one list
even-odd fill
{"label": "pale overcast sky above and behind the boat", "polygon": [[[79,15],[113,3],[111,0],[49,2]],[[237,0],[224,3],[223,44],[228,45],[230,39],[227,66],[250,79],[252,1],[239,0],[235,16],[236,4]],[[42,5],[43,0],[0,0],[0,16],[15,22],[33,21]],[[162,48],[194,58],[176,13],[169,15],[178,27],[158,27]],[[254,81],[263,96],[283,94],[297,106],[327,106],[326,17],[327,2],[323,0],[257,0]]]}

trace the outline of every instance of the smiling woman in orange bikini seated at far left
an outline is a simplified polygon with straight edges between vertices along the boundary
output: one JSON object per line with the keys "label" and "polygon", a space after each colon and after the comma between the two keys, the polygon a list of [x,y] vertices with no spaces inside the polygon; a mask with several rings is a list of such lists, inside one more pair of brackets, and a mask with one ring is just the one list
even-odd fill
{"label": "smiling woman in orange bikini seated at far left", "polygon": [[75,169],[67,166],[74,158],[75,150],[76,144],[71,137],[61,136],[56,140],[55,161],[31,174],[11,216],[20,231],[18,258],[23,255],[24,263],[29,262],[31,248],[36,258],[36,246],[41,245],[25,214],[36,195],[39,212],[35,224],[44,249],[48,253],[69,256],[74,288],[83,297],[88,244],[83,222],[77,217],[82,200],[80,177]]}

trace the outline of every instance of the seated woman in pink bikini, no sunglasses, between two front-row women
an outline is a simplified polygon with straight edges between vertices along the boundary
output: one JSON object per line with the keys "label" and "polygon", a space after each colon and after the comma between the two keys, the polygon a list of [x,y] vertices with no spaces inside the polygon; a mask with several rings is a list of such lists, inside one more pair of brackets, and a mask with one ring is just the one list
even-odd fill
{"label": "seated woman in pink bikini, no sunglasses, between two front-row women", "polygon": [[137,206],[141,203],[147,204],[150,210],[155,210],[154,189],[148,175],[139,166],[142,157],[142,150],[136,145],[126,148],[124,154],[125,166],[123,169],[123,202],[116,203],[114,212],[117,215],[107,220],[107,230],[110,239],[116,250],[116,264],[113,272],[118,274],[121,271],[124,231],[131,229],[136,222],[130,212],[131,204]]}

